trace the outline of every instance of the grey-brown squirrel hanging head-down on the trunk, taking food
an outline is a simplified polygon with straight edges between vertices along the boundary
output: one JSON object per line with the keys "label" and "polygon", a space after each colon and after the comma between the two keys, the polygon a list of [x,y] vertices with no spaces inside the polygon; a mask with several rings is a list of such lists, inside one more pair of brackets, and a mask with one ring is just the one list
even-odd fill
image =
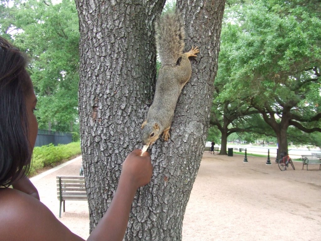
{"label": "grey-brown squirrel hanging head-down on the trunk, taking food", "polygon": [[174,11],[165,13],[156,22],[156,46],[161,62],[154,100],[143,122],[143,145],[152,145],[163,133],[167,141],[169,129],[174,117],[174,111],[183,87],[192,75],[189,57],[196,57],[198,47],[194,46],[186,53],[183,52],[185,31],[183,19]]}

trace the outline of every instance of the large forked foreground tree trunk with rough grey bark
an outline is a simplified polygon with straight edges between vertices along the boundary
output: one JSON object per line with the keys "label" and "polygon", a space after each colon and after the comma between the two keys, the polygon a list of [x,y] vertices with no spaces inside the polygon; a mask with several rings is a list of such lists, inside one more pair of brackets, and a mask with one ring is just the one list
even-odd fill
{"label": "large forked foreground tree trunk with rough grey bark", "polygon": [[[80,23],[79,114],[90,229],[107,210],[121,165],[141,148],[140,125],[156,76],[154,21],[164,1],[76,0]],[[203,155],[217,72],[224,0],[178,1],[186,48],[200,47],[178,101],[170,140],[151,148],[149,185],[133,202],[125,240],[181,240],[182,222]]]}

